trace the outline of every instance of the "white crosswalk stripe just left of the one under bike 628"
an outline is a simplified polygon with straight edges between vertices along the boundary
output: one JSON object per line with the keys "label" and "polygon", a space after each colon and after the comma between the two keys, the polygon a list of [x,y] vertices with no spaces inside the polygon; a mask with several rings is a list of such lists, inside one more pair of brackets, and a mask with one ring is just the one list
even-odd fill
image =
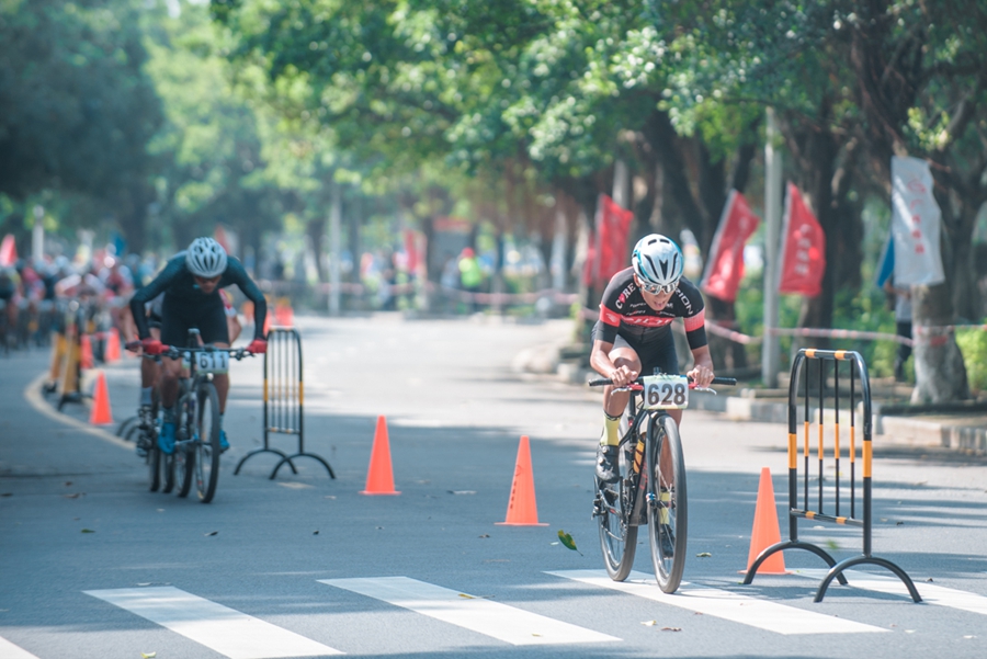
{"label": "white crosswalk stripe just left of the one under bike 628", "polygon": [[511,645],[557,645],[621,640],[537,613],[469,595],[408,577],[319,579],[367,598],[492,636]]}

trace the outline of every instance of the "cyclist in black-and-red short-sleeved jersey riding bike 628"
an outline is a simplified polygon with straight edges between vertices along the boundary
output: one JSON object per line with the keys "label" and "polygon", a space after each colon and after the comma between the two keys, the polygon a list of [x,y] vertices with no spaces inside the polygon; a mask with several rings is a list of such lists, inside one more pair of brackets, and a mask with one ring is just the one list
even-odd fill
{"label": "cyclist in black-and-red short-sleeved jersey riding bike 628", "polygon": [[[634,247],[631,268],[610,280],[600,302],[600,320],[593,327],[590,365],[613,380],[603,389],[603,434],[597,452],[597,477],[603,482],[617,478],[616,458],[620,420],[631,396],[614,388],[638,375],[678,374],[679,361],[671,322],[682,318],[695,362],[688,375],[697,387],[713,380],[713,360],[706,344],[705,311],[699,288],[682,276],[684,258],[674,242],[651,234]],[[682,422],[681,410],[669,412]]]}

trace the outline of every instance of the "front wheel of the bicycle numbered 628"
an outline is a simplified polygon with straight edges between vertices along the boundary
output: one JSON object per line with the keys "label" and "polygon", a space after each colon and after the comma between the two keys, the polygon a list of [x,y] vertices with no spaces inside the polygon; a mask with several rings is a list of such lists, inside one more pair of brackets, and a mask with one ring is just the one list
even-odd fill
{"label": "front wheel of the bicycle numbered 628", "polygon": [[661,414],[648,423],[648,535],[658,586],[676,592],[685,569],[688,508],[685,458],[674,420]]}

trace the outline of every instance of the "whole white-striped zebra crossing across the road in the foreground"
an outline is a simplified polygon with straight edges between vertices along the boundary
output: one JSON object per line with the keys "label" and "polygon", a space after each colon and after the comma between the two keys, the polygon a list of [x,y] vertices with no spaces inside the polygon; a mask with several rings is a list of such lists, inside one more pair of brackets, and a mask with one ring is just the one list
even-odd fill
{"label": "whole white-striped zebra crossing across the road in the foreground", "polygon": [[[797,576],[817,578],[818,570],[803,570]],[[624,582],[614,582],[602,570],[557,570],[546,576],[559,583],[576,582],[647,602],[647,606],[667,605],[714,616],[730,623],[779,635],[882,634],[890,629],[854,622],[824,611],[807,610],[778,601],[741,594],[735,590],[683,583],[669,595],[660,591],[654,578],[632,572]],[[796,576],[796,577],[797,577]],[[878,593],[903,594],[897,580],[866,572],[848,573],[858,589]],[[485,636],[494,646],[620,644],[621,638],[608,634],[615,629],[592,629],[563,620],[527,611],[523,602],[491,601],[485,595],[463,592],[410,577],[370,577],[319,579],[327,589],[327,602],[338,602],[341,591],[368,598],[441,623]],[[896,586],[898,584],[898,586]],[[923,583],[920,590],[927,601],[938,606],[987,615],[987,598],[975,593]],[[900,591],[900,592],[899,592]],[[330,647],[279,625],[213,602],[192,592],[167,587],[86,590],[84,594],[164,627],[229,659],[275,659],[284,657],[330,657],[344,655],[344,647]],[[831,611],[831,610],[830,610]],[[337,630],[339,632],[339,630]],[[340,638],[344,634],[336,634]],[[364,641],[366,639],[363,639]],[[481,641],[475,639],[470,645]],[[344,644],[339,644],[344,645]],[[365,645],[363,647],[366,647]],[[592,646],[587,646],[592,647]],[[365,650],[361,654],[366,654]],[[370,652],[373,654],[373,652]],[[55,655],[52,655],[54,659]],[[29,651],[2,636],[0,659],[49,659],[44,652]]]}

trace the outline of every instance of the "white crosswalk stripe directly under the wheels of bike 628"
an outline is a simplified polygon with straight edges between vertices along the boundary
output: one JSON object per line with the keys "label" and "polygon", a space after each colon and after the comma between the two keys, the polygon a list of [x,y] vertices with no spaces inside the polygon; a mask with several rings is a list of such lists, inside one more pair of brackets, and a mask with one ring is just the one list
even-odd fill
{"label": "white crosswalk stripe directly under the wheels of bike 628", "polygon": [[775,634],[854,634],[861,632],[887,632],[844,618],[786,606],[778,602],[758,600],[748,595],[682,583],[676,594],[661,592],[655,578],[644,572],[631,572],[626,581],[613,581],[602,570],[560,570],[545,572],[591,586],[617,590],[639,598],[687,609],[704,615],[713,615]]}

